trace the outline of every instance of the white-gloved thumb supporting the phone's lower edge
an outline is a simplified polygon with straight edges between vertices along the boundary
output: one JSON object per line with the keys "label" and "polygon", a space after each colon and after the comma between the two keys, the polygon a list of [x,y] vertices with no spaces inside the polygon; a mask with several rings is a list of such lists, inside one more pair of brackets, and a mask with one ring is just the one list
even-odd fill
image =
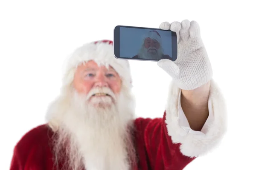
{"label": "white-gloved thumb supporting the phone's lower edge", "polygon": [[180,72],[179,66],[170,59],[160,59],[157,62],[157,65],[166,71],[166,73],[168,73],[171,77],[176,77]]}

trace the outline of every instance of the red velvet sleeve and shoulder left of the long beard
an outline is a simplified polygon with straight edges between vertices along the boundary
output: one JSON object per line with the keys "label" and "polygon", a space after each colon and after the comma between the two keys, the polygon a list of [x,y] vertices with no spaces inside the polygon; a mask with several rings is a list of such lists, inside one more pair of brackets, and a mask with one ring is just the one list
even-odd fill
{"label": "red velvet sleeve and shoulder left of the long beard", "polygon": [[35,127],[27,132],[14,148],[10,170],[43,170],[44,166],[40,165],[49,147],[50,135],[47,125]]}

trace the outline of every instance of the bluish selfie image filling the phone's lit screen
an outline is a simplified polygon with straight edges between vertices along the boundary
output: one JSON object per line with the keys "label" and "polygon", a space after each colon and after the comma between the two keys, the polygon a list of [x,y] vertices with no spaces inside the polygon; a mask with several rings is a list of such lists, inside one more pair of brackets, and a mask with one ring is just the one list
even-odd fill
{"label": "bluish selfie image filling the phone's lit screen", "polygon": [[171,59],[171,31],[120,28],[120,57],[137,59]]}

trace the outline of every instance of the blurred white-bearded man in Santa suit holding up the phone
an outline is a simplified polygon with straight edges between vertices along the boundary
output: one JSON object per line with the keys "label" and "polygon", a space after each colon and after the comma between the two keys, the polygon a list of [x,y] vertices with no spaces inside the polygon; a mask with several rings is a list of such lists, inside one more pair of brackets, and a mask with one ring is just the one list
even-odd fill
{"label": "blurred white-bearded man in Santa suit holding up the phone", "polygon": [[88,43],[70,57],[48,123],[15,146],[11,170],[182,170],[219,144],[225,105],[198,24],[160,28],[178,35],[178,59],[158,62],[173,78],[162,118],[135,119],[128,61],[111,41]]}

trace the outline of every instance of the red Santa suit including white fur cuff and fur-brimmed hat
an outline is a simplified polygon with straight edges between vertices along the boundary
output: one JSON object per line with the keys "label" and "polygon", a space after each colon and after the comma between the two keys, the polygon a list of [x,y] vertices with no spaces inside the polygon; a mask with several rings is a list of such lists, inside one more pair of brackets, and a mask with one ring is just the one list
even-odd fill
{"label": "red Santa suit including white fur cuff and fur-brimmed hat", "polygon": [[[103,41],[86,46],[94,51],[104,50],[106,55],[102,59],[108,54],[110,65],[120,74],[123,82],[131,86],[129,64],[113,57],[112,48],[109,47],[111,45],[111,42]],[[81,53],[84,54],[83,57]],[[77,63],[97,60],[95,56],[91,56],[92,53],[87,53],[84,48],[80,48],[73,54],[64,74],[64,85],[72,81]],[[201,132],[190,129],[180,105],[180,91],[175,84],[170,85],[163,117],[134,119],[131,136],[136,161],[130,165],[131,170],[182,170],[189,162],[206,154],[221,141],[226,130],[226,110],[217,85],[211,82],[209,117]],[[50,122],[54,116],[49,119]],[[17,142],[10,170],[67,170],[67,162],[55,161],[54,129],[49,124],[35,127]]]}

